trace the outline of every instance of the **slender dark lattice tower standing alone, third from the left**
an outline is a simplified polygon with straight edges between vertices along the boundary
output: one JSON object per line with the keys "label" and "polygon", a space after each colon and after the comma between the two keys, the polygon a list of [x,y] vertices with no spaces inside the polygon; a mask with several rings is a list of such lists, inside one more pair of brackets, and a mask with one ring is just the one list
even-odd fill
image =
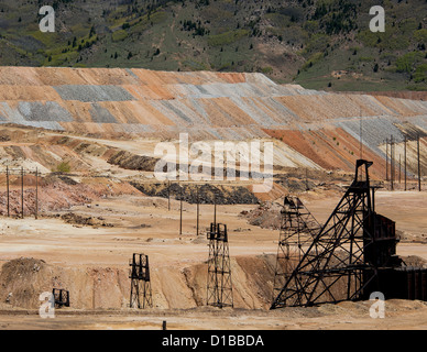
{"label": "slender dark lattice tower standing alone, third from the left", "polygon": [[211,223],[210,231],[208,231],[208,240],[207,305],[219,308],[233,307],[227,226],[222,223]]}

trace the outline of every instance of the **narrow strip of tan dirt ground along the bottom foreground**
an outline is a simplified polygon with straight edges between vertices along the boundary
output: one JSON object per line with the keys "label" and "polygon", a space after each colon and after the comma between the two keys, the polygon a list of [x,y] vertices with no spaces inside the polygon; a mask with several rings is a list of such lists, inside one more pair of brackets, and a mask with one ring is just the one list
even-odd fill
{"label": "narrow strip of tan dirt ground along the bottom foreground", "polygon": [[42,319],[36,311],[0,316],[1,329],[62,330],[425,330],[427,305],[388,300],[385,318],[372,319],[371,302],[341,302],[319,308],[286,308],[281,311],[214,309],[146,311],[62,311]]}

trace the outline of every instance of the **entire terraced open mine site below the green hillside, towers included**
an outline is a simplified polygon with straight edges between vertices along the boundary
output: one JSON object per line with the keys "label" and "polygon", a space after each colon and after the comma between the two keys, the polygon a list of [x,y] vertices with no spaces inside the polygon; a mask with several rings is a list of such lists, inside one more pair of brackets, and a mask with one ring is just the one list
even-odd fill
{"label": "entire terraced open mine site below the green hillside, towers included", "polygon": [[[407,98],[0,67],[0,329],[427,328],[427,101]],[[259,143],[256,172],[218,167],[219,142]]]}

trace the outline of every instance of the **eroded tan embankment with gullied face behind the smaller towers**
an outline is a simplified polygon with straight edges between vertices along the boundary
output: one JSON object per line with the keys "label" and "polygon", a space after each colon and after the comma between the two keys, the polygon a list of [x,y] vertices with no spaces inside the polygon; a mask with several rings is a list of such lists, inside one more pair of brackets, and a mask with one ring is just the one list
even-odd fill
{"label": "eroded tan embankment with gullied face behind the smaller towers", "polygon": [[[272,299],[274,255],[231,258],[236,308],[266,309]],[[206,263],[151,268],[153,304],[160,309],[206,305]],[[125,308],[131,282],[128,267],[66,267],[35,258],[6,262],[0,272],[0,307],[37,309],[52,288],[69,290],[74,309]]]}

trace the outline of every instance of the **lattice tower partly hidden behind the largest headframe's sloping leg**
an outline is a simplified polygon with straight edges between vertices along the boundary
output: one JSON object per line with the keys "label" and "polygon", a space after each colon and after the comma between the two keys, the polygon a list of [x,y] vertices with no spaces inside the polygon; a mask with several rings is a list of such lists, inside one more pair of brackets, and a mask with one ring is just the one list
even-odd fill
{"label": "lattice tower partly hidden behind the largest headframe's sloping leg", "polygon": [[302,255],[319,233],[320,224],[298,197],[286,196],[281,211],[280,231],[273,299],[280,294]]}

